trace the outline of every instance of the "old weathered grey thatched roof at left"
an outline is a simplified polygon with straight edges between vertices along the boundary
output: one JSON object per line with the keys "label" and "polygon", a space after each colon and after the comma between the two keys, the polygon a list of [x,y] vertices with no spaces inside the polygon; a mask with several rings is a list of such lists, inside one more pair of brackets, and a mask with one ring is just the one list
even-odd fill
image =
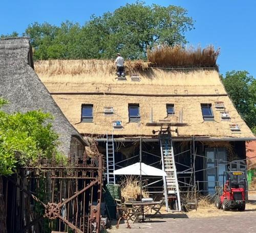
{"label": "old weathered grey thatched roof at left", "polygon": [[28,38],[0,40],[0,90],[0,97],[9,101],[4,106],[7,112],[41,109],[53,114],[53,129],[59,134],[59,150],[62,153],[69,153],[72,137],[86,145],[34,72]]}

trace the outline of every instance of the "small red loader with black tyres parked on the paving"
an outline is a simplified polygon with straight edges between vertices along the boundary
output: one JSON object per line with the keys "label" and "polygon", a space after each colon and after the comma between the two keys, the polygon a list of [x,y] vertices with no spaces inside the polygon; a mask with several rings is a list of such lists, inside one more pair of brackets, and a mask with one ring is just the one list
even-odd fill
{"label": "small red loader with black tyres parked on the paving", "polygon": [[[224,180],[226,178],[226,182]],[[226,171],[223,173],[223,194],[218,196],[215,205],[218,209],[245,210],[246,181],[245,172]]]}

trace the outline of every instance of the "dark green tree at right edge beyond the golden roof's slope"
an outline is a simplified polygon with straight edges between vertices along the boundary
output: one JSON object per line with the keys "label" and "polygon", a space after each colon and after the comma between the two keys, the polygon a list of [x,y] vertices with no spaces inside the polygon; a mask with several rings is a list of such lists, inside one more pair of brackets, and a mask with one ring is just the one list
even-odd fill
{"label": "dark green tree at right edge beyond the golden roof's slope", "polygon": [[256,80],[247,71],[227,72],[222,80],[234,106],[256,133]]}

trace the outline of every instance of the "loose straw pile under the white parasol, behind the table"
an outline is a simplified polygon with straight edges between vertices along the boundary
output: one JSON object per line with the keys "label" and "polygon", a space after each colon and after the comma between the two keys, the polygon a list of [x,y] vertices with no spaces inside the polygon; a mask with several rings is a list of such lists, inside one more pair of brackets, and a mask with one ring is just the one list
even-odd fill
{"label": "loose straw pile under the white parasol, behind the table", "polygon": [[[128,198],[137,199],[140,196],[140,181],[135,176],[125,176],[120,185],[121,195],[125,200],[128,200]],[[142,189],[142,196],[148,197],[145,189]]]}

